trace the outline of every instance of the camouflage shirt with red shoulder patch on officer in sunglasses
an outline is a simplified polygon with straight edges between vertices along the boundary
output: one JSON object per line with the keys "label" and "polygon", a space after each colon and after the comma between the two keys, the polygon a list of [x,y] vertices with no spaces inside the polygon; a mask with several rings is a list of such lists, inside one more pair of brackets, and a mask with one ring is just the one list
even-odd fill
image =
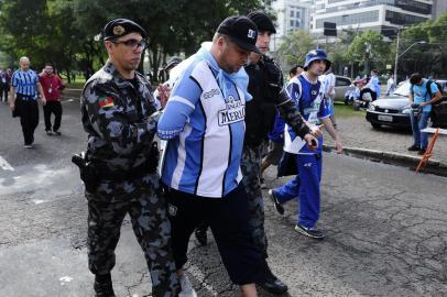
{"label": "camouflage shirt with red shoulder patch on officer in sunglasses", "polygon": [[156,132],[156,121],[150,118],[155,111],[151,91],[141,74],[124,79],[110,62],[88,79],[80,109],[94,162],[113,172],[148,162]]}

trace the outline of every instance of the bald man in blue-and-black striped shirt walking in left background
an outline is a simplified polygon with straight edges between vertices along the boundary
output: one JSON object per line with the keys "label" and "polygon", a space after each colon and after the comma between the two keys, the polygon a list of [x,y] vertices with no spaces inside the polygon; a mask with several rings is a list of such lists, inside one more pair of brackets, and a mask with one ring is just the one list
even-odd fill
{"label": "bald man in blue-and-black striped shirt walking in left background", "polygon": [[30,69],[30,59],[20,58],[20,70],[11,78],[10,108],[20,117],[24,145],[32,148],[34,143],[34,130],[39,124],[37,91],[41,95],[42,105],[46,103],[39,76]]}

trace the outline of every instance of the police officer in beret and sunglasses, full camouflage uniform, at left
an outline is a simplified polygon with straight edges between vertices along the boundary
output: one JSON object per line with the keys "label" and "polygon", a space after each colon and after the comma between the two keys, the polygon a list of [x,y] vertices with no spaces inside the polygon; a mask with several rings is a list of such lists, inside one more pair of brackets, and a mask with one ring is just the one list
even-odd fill
{"label": "police officer in beret and sunglasses, full camouflage uniform, at left", "polygon": [[129,213],[151,273],[153,296],[176,296],[171,226],[156,174],[154,99],[146,79],[135,72],[146,32],[130,20],[117,19],[105,26],[102,35],[109,61],[86,82],[81,95],[88,133],[86,168],[90,174],[84,180],[94,288],[96,296],[115,296],[110,271]]}

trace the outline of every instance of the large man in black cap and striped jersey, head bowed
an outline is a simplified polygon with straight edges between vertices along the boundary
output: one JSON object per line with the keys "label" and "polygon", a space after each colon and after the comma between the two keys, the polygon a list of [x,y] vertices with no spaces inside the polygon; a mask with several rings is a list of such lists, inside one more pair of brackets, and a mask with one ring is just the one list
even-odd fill
{"label": "large man in black cap and striped jersey, head bowed", "polygon": [[[262,251],[252,238],[247,193],[240,183],[246,102],[251,99],[242,67],[251,52],[260,53],[257,36],[250,19],[226,19],[211,48],[200,48],[182,74],[157,128],[159,136],[170,140],[162,180],[168,187],[172,245],[181,279],[189,237],[206,220],[242,296],[257,296],[254,284],[265,282]],[[299,132],[310,144],[309,130]]]}

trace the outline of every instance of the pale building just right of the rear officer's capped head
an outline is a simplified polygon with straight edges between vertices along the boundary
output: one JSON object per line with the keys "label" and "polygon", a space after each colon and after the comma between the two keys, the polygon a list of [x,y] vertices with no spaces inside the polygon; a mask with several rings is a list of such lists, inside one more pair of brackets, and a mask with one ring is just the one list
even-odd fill
{"label": "pale building just right of the rear officer's capped head", "polygon": [[273,0],[272,10],[276,13],[276,34],[271,50],[281,44],[281,40],[295,30],[309,30],[312,1],[309,0]]}

